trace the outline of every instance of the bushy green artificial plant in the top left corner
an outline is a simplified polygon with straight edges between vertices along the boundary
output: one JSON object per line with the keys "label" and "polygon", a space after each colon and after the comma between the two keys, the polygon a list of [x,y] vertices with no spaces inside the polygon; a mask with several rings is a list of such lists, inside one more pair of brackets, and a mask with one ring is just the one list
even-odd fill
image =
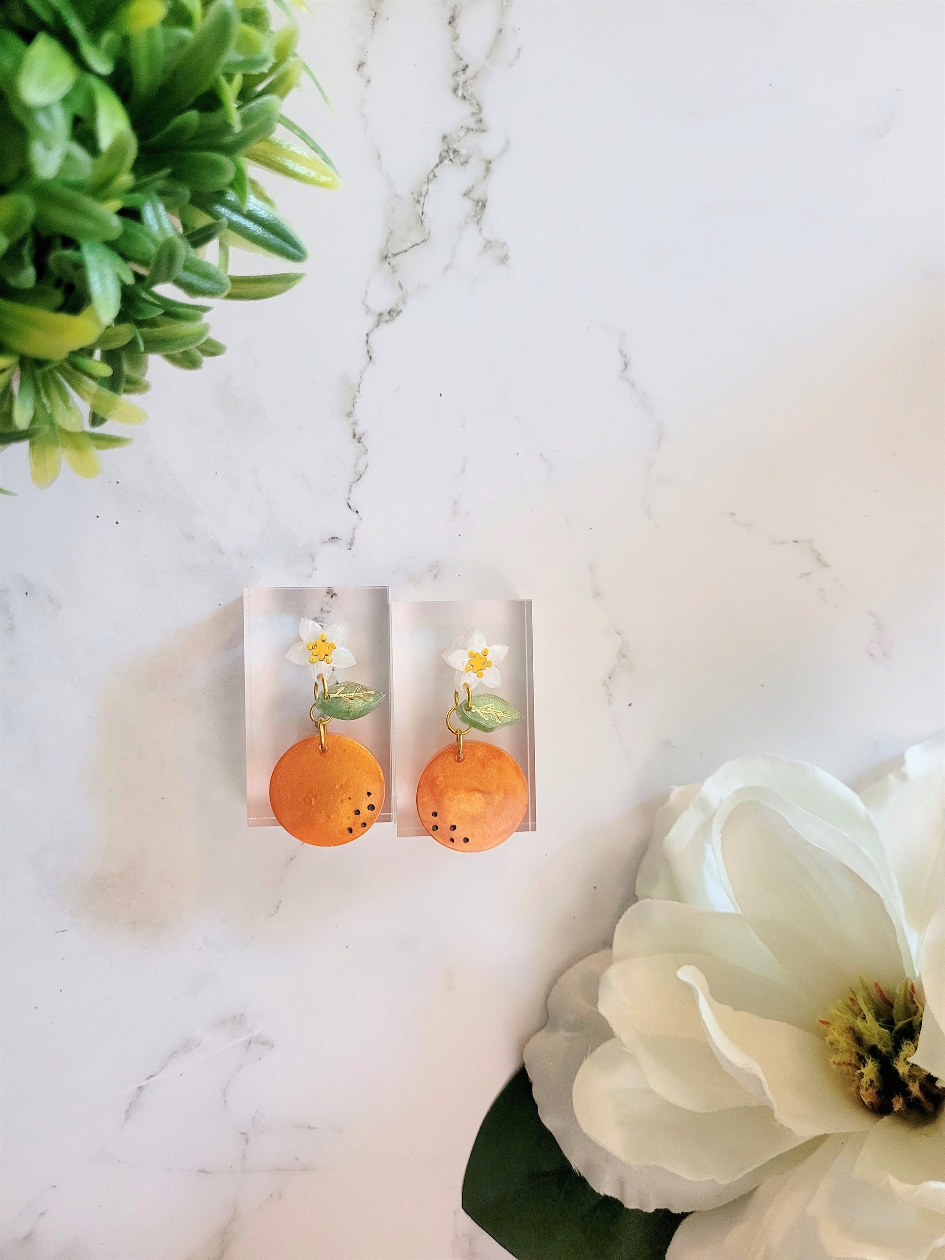
{"label": "bushy green artificial plant in the top left corner", "polygon": [[0,4],[0,444],[37,485],[130,441],[103,426],[145,418],[149,355],[223,354],[205,299],[301,280],[229,272],[231,246],[306,257],[251,168],[340,183],[282,112],[297,35],[284,0]]}

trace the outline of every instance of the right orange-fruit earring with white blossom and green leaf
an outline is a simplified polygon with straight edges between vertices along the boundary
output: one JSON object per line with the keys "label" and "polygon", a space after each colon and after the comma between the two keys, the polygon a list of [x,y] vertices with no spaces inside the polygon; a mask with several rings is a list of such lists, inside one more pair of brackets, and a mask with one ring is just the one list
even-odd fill
{"label": "right orange-fruit earring with white blossom and green leaf", "polygon": [[[522,714],[500,696],[474,696],[480,687],[498,687],[496,665],[508,648],[489,644],[470,630],[442,653],[454,668],[452,708],[446,728],[456,737],[430,760],[417,784],[417,813],[423,829],[444,848],[480,853],[508,840],[528,809],[528,782],[504,748],[483,740],[465,740],[472,730],[489,733],[518,722]],[[456,716],[456,724],[452,718]]]}

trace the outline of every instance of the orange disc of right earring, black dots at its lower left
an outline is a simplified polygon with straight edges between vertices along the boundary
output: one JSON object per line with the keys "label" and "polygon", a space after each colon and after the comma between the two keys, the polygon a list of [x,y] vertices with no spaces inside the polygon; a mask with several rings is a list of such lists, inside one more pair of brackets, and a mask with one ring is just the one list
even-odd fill
{"label": "orange disc of right earring, black dots at its lower left", "polygon": [[466,740],[462,761],[449,743],[417,784],[417,813],[447,849],[481,853],[508,840],[528,809],[528,784],[514,757],[481,740]]}

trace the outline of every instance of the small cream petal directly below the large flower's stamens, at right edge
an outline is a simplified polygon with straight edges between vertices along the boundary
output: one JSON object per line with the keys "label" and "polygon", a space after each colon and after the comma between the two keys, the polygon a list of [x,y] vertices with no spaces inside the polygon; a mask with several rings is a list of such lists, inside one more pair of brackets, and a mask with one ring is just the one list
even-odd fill
{"label": "small cream petal directly below the large flower's stamens, at right edge", "polygon": [[910,1124],[888,1115],[863,1143],[853,1174],[906,1203],[945,1212],[945,1110]]}

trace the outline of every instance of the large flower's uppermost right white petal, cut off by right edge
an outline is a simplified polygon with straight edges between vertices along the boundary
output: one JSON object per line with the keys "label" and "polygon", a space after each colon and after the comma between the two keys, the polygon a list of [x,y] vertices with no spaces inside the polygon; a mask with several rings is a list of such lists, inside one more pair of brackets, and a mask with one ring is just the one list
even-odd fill
{"label": "large flower's uppermost right white petal, cut off by right edge", "polygon": [[861,793],[898,879],[906,924],[917,940],[941,901],[945,869],[945,746],[907,748],[902,766]]}

